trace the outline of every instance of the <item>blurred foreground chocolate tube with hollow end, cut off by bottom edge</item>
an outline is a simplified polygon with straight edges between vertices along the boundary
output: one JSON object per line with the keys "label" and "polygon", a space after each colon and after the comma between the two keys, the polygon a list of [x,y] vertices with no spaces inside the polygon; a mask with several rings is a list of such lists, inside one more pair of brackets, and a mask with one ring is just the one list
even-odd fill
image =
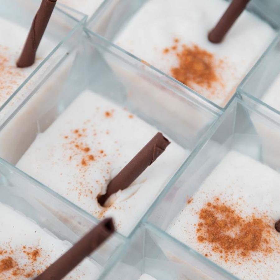
{"label": "blurred foreground chocolate tube with hollow end, cut off by bottom edge", "polygon": [[114,230],[112,218],[103,220],[34,280],[63,279],[86,256],[100,246]]}

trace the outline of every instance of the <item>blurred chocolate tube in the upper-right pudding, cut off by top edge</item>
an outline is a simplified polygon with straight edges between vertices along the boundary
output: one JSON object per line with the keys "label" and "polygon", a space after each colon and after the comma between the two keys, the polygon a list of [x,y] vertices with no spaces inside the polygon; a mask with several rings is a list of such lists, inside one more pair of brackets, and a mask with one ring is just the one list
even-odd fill
{"label": "blurred chocolate tube in the upper-right pudding, cut off by top edge", "polygon": [[232,0],[215,28],[209,32],[208,40],[212,43],[220,43],[236,19],[245,10],[249,1],[250,0]]}

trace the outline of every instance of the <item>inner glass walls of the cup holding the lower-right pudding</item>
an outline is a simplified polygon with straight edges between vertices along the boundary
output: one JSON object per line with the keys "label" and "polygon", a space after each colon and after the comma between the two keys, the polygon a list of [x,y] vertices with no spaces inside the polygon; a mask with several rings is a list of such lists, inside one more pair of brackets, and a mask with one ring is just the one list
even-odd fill
{"label": "inner glass walls of the cup holding the lower-right pudding", "polygon": [[[142,221],[169,231],[181,210],[187,203],[192,203],[189,199],[229,151],[249,156],[280,173],[280,124],[274,118],[274,112],[236,98],[170,180]],[[180,217],[183,223],[184,218]],[[194,250],[187,245],[186,248]]]}

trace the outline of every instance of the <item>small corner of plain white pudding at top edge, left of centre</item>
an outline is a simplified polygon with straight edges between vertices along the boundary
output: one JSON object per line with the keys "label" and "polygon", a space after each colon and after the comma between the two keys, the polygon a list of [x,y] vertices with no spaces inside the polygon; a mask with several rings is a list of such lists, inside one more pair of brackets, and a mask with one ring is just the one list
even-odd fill
{"label": "small corner of plain white pudding at top edge, left of centre", "polygon": [[104,0],[59,0],[59,3],[67,5],[90,17],[103,1]]}

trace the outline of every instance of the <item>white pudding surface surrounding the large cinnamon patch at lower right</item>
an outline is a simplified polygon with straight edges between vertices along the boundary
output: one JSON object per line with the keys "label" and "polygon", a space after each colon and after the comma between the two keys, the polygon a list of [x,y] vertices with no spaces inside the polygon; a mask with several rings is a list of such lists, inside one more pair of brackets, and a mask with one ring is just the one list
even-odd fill
{"label": "white pudding surface surrounding the large cinnamon patch at lower right", "polygon": [[[199,253],[208,254],[209,259],[241,279],[278,278],[280,234],[274,229],[274,223],[280,218],[279,182],[280,175],[275,170],[231,151],[206,178],[190,203],[186,203],[167,232]],[[210,243],[198,242],[199,211],[215,198],[243,218],[267,216],[271,236],[268,246],[273,248],[273,252],[264,255],[255,251],[245,259],[236,254],[225,262],[220,253],[212,251]]]}

